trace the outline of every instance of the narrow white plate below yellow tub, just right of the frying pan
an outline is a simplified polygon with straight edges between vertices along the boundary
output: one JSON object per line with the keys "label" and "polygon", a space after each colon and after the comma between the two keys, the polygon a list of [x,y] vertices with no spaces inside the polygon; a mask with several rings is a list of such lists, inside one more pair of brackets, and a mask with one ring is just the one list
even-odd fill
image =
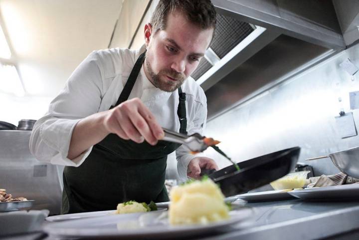
{"label": "narrow white plate below yellow tub, just right of the frying pan", "polygon": [[237,195],[238,198],[248,201],[248,202],[265,202],[265,201],[277,201],[277,200],[286,200],[294,199],[292,195],[289,194],[287,190],[274,190],[274,191],[265,191],[257,193],[246,193]]}

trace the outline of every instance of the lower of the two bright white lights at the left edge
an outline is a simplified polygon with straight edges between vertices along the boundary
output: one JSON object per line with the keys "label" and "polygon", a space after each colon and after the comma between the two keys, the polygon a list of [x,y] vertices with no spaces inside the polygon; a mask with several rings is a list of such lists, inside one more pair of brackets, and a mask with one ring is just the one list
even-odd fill
{"label": "lower of the two bright white lights at the left edge", "polygon": [[24,96],[25,91],[15,66],[0,64],[0,91]]}

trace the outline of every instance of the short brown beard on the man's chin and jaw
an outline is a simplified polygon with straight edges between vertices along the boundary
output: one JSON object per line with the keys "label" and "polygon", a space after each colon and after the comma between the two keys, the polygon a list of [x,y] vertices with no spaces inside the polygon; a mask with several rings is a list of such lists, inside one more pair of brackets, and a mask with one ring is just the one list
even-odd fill
{"label": "short brown beard on the man's chin and jaw", "polygon": [[[147,72],[150,74],[150,77],[152,79],[151,81],[152,84],[155,85],[155,87],[158,87],[165,92],[175,91],[180,87],[180,85],[182,85],[182,83],[185,80],[185,75],[183,73],[176,72],[172,69],[163,69],[160,70],[158,74],[155,74],[151,67],[150,62],[147,59],[146,59],[146,68],[147,68]],[[165,80],[160,78],[161,75],[163,75]],[[168,79],[166,76],[176,79],[176,81]]]}

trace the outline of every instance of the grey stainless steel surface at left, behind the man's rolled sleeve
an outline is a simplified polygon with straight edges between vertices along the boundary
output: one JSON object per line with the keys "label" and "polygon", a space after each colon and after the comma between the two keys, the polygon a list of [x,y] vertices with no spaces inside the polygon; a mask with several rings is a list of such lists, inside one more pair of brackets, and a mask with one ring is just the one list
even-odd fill
{"label": "grey stainless steel surface at left, behind the man's rolled sleeve", "polygon": [[0,188],[35,200],[33,209],[60,214],[63,166],[37,161],[30,153],[31,131],[0,131]]}

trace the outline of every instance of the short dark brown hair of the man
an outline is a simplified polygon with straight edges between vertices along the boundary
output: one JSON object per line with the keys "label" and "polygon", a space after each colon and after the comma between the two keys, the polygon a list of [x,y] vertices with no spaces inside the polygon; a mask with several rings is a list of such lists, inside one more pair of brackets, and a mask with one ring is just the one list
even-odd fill
{"label": "short dark brown hair of the man", "polygon": [[169,12],[179,10],[186,19],[202,29],[213,28],[216,24],[216,12],[210,0],[160,0],[151,17],[153,34],[166,29]]}

